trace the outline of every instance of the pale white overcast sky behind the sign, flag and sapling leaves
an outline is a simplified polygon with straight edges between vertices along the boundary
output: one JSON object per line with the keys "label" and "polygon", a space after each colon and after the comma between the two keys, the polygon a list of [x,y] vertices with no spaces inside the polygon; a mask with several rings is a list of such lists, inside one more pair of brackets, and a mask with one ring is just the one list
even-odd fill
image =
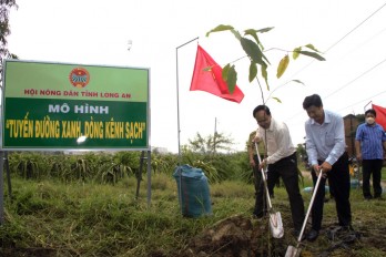
{"label": "pale white overcast sky behind the sign, flag and sapling leaves", "polygon": [[[370,101],[386,106],[386,1],[372,0],[18,0],[10,16],[9,50],[21,60],[149,68],[151,72],[151,145],[177,152],[176,49],[181,144],[199,132],[232,137],[244,150],[256,128],[253,109],[262,103],[255,82],[247,82],[247,60],[233,63],[241,104],[205,92],[190,92],[196,45],[221,65],[244,56],[230,32],[205,33],[219,24],[238,31],[274,27],[260,35],[272,66],[272,115],[286,122],[294,144],[303,143],[305,96],[318,93],[324,107],[343,116],[364,113]],[[128,51],[128,41],[132,48]],[[275,79],[283,50],[314,44],[325,62],[302,56]],[[280,50],[275,50],[280,49]],[[304,85],[288,83],[301,80]],[[367,106],[366,106],[367,105]],[[215,124],[216,121],[216,124]]]}

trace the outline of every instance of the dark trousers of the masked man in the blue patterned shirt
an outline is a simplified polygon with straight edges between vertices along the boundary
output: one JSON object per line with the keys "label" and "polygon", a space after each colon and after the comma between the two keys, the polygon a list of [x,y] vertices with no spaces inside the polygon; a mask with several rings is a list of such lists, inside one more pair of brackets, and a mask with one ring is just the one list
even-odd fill
{"label": "dark trousers of the masked man in the blue patterned shirt", "polygon": [[383,160],[363,160],[362,172],[363,172],[363,196],[365,198],[372,198],[369,179],[373,174],[373,188],[374,197],[380,197],[380,169]]}

